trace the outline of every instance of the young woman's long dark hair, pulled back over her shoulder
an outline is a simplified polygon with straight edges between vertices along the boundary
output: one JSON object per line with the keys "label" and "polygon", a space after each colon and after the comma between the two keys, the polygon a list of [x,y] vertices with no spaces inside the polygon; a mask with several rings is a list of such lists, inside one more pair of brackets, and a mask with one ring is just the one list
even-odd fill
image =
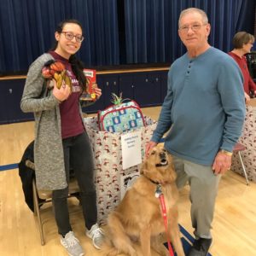
{"label": "young woman's long dark hair, pulled back over her shoulder", "polygon": [[[73,24],[77,24],[81,27],[81,30],[83,32],[83,26],[82,24],[79,22],[79,20],[74,20],[74,19],[68,19],[68,20],[62,20],[58,26],[56,27],[55,32],[61,33],[63,30],[63,27],[67,24],[67,23],[73,23]],[[51,50],[55,50],[57,48],[58,42],[55,41],[53,47],[51,48]],[[84,64],[82,61],[79,61],[79,59],[75,56],[75,55],[71,55],[69,58],[69,63],[71,64],[73,73],[75,74],[76,78],[79,80],[79,84],[82,87],[83,90],[86,89],[86,79],[83,73],[83,69],[84,69]]]}

